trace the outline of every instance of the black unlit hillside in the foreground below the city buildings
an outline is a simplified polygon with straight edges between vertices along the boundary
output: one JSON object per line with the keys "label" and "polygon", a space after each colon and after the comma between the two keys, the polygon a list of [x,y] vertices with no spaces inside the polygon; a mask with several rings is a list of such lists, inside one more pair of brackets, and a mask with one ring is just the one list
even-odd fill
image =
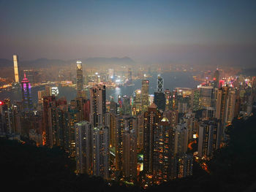
{"label": "black unlit hillside in the foreground below the city buildings", "polygon": [[[256,115],[234,120],[227,128],[230,141],[194,175],[152,186],[147,191],[256,191]],[[74,174],[75,162],[59,148],[34,147],[0,138],[1,187],[19,191],[143,191],[105,182],[100,177]],[[10,185],[12,183],[12,185]],[[15,183],[15,184],[13,184]]]}

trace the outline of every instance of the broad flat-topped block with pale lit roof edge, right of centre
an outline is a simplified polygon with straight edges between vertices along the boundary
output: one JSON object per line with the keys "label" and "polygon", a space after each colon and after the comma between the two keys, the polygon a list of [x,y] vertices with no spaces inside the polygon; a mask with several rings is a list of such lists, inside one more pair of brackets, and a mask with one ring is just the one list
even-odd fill
{"label": "broad flat-topped block with pale lit roof edge, right of centre", "polygon": [[212,107],[214,101],[214,88],[211,86],[202,86],[200,88],[200,109]]}

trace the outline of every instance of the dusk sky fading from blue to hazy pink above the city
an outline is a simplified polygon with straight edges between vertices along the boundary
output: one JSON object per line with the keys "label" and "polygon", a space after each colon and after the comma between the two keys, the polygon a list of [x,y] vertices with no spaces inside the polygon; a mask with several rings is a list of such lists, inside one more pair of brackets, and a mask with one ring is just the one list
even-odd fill
{"label": "dusk sky fading from blue to hazy pink above the city", "polygon": [[246,64],[256,1],[0,0],[0,58]]}

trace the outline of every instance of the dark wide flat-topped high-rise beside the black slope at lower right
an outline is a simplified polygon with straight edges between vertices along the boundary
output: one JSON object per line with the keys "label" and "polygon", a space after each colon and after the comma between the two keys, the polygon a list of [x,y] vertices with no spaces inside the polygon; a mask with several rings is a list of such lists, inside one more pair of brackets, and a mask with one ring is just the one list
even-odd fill
{"label": "dark wide flat-topped high-rise beside the black slope at lower right", "polygon": [[198,156],[208,158],[219,148],[220,127],[217,120],[203,120],[199,126]]}

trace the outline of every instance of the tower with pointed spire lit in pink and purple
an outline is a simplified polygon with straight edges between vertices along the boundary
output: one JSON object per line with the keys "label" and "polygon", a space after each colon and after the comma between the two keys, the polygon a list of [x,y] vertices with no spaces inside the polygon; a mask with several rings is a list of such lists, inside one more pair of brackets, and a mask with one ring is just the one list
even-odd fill
{"label": "tower with pointed spire lit in pink and purple", "polygon": [[31,98],[31,85],[29,80],[26,78],[26,74],[24,74],[24,79],[21,81],[21,88],[22,88],[23,110],[25,111],[33,110],[33,103]]}

